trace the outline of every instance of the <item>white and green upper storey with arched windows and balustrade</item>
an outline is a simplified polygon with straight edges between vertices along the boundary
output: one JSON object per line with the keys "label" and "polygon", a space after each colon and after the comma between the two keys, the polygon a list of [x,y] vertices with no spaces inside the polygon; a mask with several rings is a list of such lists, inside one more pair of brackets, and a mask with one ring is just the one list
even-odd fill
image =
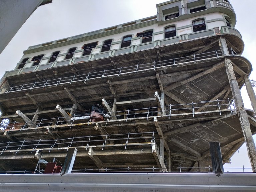
{"label": "white and green upper storey with arched windows and balustrade", "polygon": [[236,17],[228,1],[171,0],[157,15],[65,39],[31,46],[4,76],[111,57],[195,38],[233,33]]}

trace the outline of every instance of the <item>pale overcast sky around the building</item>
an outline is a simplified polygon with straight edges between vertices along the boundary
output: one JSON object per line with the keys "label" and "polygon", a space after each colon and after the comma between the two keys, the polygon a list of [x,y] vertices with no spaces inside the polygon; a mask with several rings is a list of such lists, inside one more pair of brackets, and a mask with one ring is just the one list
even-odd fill
{"label": "pale overcast sky around the building", "polygon": [[[153,16],[156,15],[156,4],[165,1],[167,0],[53,0],[35,10],[0,54],[0,76],[15,68],[23,56],[23,50],[29,46]],[[256,80],[256,26],[253,21],[256,18],[256,1],[230,0],[230,3],[237,15],[235,28],[241,33],[245,43],[243,56],[255,68],[250,79]],[[251,108],[245,87],[242,88],[242,95],[244,101],[247,101],[245,107]],[[231,162],[231,165],[224,167],[250,167],[245,144],[231,158]]]}

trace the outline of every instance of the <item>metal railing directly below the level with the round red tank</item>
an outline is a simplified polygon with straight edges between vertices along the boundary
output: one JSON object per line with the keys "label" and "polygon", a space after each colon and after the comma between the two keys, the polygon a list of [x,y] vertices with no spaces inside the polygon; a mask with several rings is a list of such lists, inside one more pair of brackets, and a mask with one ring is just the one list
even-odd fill
{"label": "metal railing directly below the level with the round red tank", "polygon": [[[36,151],[36,150],[46,150],[50,152],[53,149],[63,149],[68,150],[69,148],[95,148],[99,147],[102,150],[104,147],[124,147],[130,145],[152,145],[156,141],[157,132],[143,132],[143,133],[127,133],[127,134],[112,134],[112,135],[89,135],[83,137],[72,137],[66,139],[56,139],[56,140],[24,140],[18,142],[7,142],[0,143],[0,155],[5,152],[12,152],[17,154],[19,151]],[[145,143],[145,140],[150,142]],[[107,144],[112,141],[113,144]],[[141,142],[140,142],[141,141]],[[114,143],[118,144],[114,144]],[[61,147],[58,147],[61,145]]]}

